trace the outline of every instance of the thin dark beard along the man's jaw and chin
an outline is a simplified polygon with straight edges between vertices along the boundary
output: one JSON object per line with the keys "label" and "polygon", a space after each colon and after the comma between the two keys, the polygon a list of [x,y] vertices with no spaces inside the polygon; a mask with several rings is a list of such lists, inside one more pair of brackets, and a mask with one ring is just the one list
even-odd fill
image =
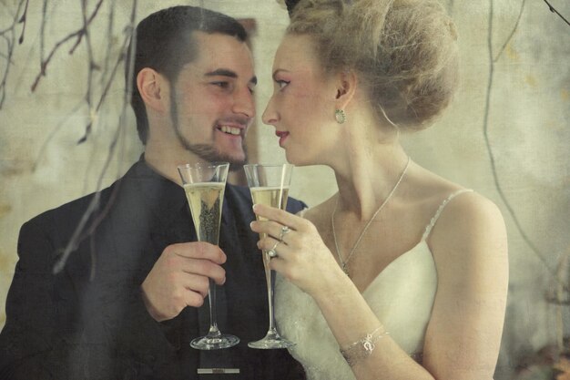
{"label": "thin dark beard along the man's jaw and chin", "polygon": [[200,159],[208,162],[229,162],[229,170],[239,170],[248,162],[248,147],[246,140],[241,142],[241,149],[243,149],[244,159],[234,159],[224,152],[220,152],[212,144],[192,144],[188,139],[182,135],[180,126],[178,124],[178,106],[176,103],[176,92],[174,87],[170,91],[170,118],[172,119],[172,127],[178,137],[180,145],[191,153],[197,155]]}

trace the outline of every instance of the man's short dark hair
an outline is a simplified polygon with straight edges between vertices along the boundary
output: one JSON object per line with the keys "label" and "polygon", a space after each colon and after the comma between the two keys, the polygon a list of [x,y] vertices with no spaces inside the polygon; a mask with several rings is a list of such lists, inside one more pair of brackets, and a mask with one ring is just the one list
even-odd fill
{"label": "man's short dark hair", "polygon": [[131,106],[137,117],[138,137],[143,144],[146,144],[148,139],[148,117],[145,103],[138,93],[137,74],[143,68],[150,67],[167,77],[170,83],[175,83],[182,67],[196,58],[197,48],[191,33],[193,31],[221,33],[234,36],[239,41],[245,41],[248,36],[244,27],[234,18],[188,5],[162,9],[138,23],[137,31],[130,42],[136,43],[134,69],[132,73],[129,70],[129,46],[125,81],[128,84],[129,76],[132,75]]}

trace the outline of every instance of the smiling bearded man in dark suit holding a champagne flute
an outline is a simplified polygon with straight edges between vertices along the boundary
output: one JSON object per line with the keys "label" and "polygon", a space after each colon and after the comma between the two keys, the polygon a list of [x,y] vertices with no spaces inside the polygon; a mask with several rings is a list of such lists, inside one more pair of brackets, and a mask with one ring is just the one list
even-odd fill
{"label": "smiling bearded man in dark suit holding a champagne flute", "polygon": [[[219,247],[200,243],[176,169],[246,162],[257,81],[246,32],[229,16],[176,6],[149,15],[136,36],[127,83],[145,152],[97,194],[99,207],[61,272],[53,274],[54,265],[96,195],[22,227],[0,334],[0,378],[303,378],[286,351],[247,346],[269,320],[249,190],[227,186]],[[289,206],[296,212],[304,205]],[[209,279],[223,285],[219,328],[238,335],[238,346],[189,347],[208,332]]]}

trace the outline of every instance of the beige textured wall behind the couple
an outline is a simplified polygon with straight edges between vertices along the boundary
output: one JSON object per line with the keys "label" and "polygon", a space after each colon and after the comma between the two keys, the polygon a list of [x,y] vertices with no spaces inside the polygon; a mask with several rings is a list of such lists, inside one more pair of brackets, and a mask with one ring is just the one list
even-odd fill
{"label": "beige textured wall behind the couple", "polygon": [[[0,31],[11,24],[18,3],[18,0],[8,0],[0,7]],[[56,41],[80,26],[80,3],[74,0],[49,2],[44,54]],[[92,9],[94,4],[91,3],[96,2],[88,3]],[[150,1],[139,3],[137,19],[157,9]],[[256,19],[257,34],[252,42],[260,77],[257,97],[261,113],[271,92],[272,55],[288,17],[274,0],[245,3],[246,0],[203,1],[209,8],[229,15]],[[570,16],[567,0],[551,3],[566,17]],[[175,4],[177,2],[170,0],[160,2],[161,7]],[[186,4],[199,5],[199,2]],[[523,4],[520,23],[499,56]],[[570,253],[567,216],[570,211],[567,153],[570,145],[570,26],[549,12],[542,1],[447,0],[445,5],[461,36],[463,86],[453,108],[433,128],[403,139],[412,159],[483,193],[504,211],[509,231],[511,281],[496,378],[506,379],[522,356],[555,341],[556,309],[545,302],[545,293],[552,288],[553,281],[545,263],[554,269],[560,257]],[[485,108],[490,77],[491,5],[493,56],[498,58],[493,64],[489,107]],[[107,20],[112,6],[115,23],[109,44]],[[104,2],[101,16],[91,26],[93,52],[99,65],[105,63],[107,47],[117,53],[129,7],[128,1]],[[57,51],[47,67],[46,77],[36,92],[31,93],[30,87],[39,72],[41,15],[41,5],[30,2],[25,41],[15,46],[5,103],[0,109],[0,326],[5,321],[5,295],[14,272],[19,227],[39,212],[97,189],[109,143],[120,125],[122,67],[108,101],[94,118],[89,139],[84,144],[76,144],[90,119],[86,102],[82,101],[87,88],[85,44],[71,56],[67,51],[73,42]],[[15,30],[17,39],[22,27],[16,26]],[[0,75],[6,69],[3,44],[4,41],[0,42]],[[97,99],[102,85],[101,78],[95,79],[92,89]],[[488,141],[504,198],[495,186],[484,139],[486,111]],[[130,111],[124,121],[112,165],[102,178],[103,185],[122,174],[141,151]],[[260,161],[284,161],[273,128],[257,124],[251,133],[256,133],[262,142]],[[326,199],[335,191],[330,169],[295,170],[293,195],[310,204]],[[544,261],[524,241],[515,218]],[[567,310],[563,318],[568,334],[570,315]]]}

